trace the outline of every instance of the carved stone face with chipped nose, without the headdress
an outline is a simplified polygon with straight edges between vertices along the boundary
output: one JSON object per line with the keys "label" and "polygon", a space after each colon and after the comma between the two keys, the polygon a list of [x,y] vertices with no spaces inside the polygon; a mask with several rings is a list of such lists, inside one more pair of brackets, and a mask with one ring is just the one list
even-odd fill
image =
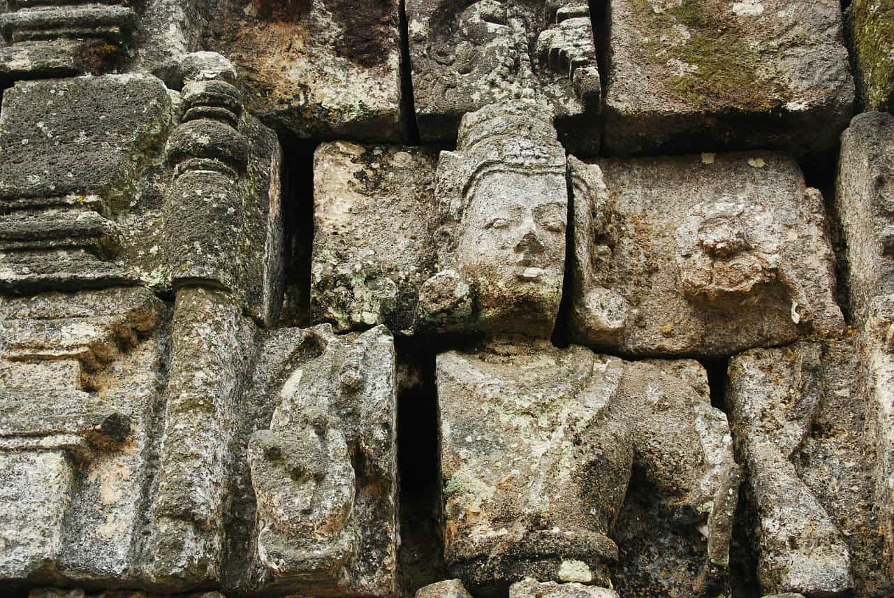
{"label": "carved stone face with chipped nose, without the headdress", "polygon": [[482,307],[527,304],[526,316],[554,319],[568,223],[564,173],[488,173],[473,192],[457,261],[477,283]]}

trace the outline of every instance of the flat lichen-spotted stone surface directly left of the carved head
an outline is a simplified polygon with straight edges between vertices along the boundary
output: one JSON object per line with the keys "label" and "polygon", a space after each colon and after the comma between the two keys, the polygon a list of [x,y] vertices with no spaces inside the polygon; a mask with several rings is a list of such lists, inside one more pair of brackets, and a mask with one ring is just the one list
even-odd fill
{"label": "flat lichen-spotted stone surface directly left of the carved head", "polygon": [[434,150],[325,143],[314,156],[312,324],[415,329],[434,274]]}

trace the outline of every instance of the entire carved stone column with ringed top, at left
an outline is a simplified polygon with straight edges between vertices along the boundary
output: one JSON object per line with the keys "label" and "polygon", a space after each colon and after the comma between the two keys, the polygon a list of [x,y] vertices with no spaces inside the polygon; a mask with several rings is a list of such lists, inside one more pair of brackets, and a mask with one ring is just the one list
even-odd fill
{"label": "entire carved stone column with ringed top, at left", "polygon": [[164,243],[176,300],[149,577],[190,585],[220,577],[240,345],[248,334],[239,257],[249,141],[238,131],[241,98],[230,83],[190,81],[181,98],[181,124],[166,148],[174,180]]}

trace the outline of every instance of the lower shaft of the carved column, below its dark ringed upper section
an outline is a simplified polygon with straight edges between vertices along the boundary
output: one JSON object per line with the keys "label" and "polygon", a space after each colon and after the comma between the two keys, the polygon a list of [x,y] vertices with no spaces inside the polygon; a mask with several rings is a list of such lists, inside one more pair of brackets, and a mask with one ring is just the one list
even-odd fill
{"label": "lower shaft of the carved column, below its dark ringed upper section", "polygon": [[221,578],[224,506],[254,328],[232,295],[177,292],[146,576],[173,591]]}

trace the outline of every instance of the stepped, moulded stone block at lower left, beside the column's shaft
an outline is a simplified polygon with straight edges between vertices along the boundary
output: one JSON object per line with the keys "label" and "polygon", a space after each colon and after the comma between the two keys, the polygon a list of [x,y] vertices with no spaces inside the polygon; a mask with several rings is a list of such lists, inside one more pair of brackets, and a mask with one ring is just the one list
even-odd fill
{"label": "stepped, moulded stone block at lower left, beside the column's shaft", "polygon": [[139,582],[165,316],[139,287],[0,299],[4,578]]}

